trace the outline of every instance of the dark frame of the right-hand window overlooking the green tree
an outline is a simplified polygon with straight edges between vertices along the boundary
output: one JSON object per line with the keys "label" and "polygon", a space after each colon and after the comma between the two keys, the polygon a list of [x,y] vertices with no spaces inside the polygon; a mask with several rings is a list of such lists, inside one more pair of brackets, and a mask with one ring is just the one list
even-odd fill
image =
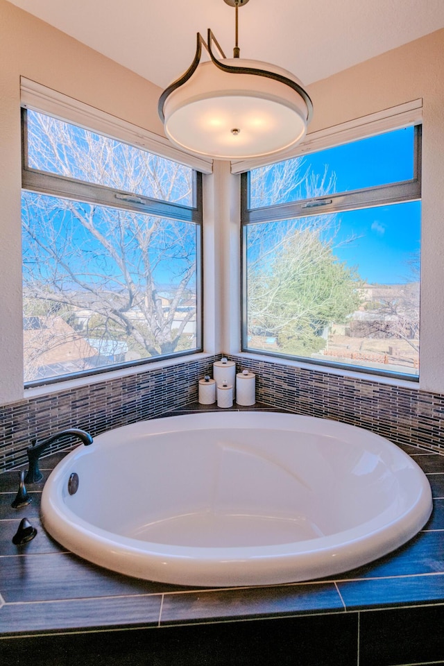
{"label": "dark frame of the right-hand window overlooking the green tree", "polygon": [[[304,364],[323,366],[325,368],[338,368],[357,373],[366,373],[368,375],[379,375],[380,377],[393,377],[405,379],[411,382],[419,382],[418,375],[407,375],[404,373],[395,373],[390,370],[379,368],[369,368],[366,366],[355,366],[352,364],[336,363],[335,361],[323,361],[321,359],[312,359],[311,357],[302,357],[289,355],[280,352],[271,352],[268,350],[256,350],[248,347],[248,304],[247,304],[247,243],[246,232],[248,225],[261,224],[275,221],[284,221],[288,219],[307,218],[328,213],[346,212],[349,210],[359,210],[363,208],[380,207],[394,203],[403,203],[406,201],[421,200],[422,195],[422,121],[414,123],[402,123],[399,126],[391,127],[386,130],[379,130],[378,135],[388,131],[401,130],[413,124],[413,178],[400,182],[389,183],[388,185],[375,185],[374,187],[364,187],[350,191],[334,192],[325,196],[301,199],[289,203],[273,204],[270,206],[249,208],[250,200],[250,171],[241,173],[241,352],[248,354],[257,354],[261,356],[274,357],[280,359],[289,359]],[[374,135],[375,133],[373,133]],[[334,142],[334,135],[331,135],[331,143],[318,148],[318,151],[325,148],[335,148],[344,143],[358,142],[360,139],[368,137],[363,134],[361,137],[354,137],[351,141]],[[316,146],[310,151],[301,153],[318,152]],[[297,157],[293,155],[292,157]],[[291,159],[288,157],[287,159]]]}

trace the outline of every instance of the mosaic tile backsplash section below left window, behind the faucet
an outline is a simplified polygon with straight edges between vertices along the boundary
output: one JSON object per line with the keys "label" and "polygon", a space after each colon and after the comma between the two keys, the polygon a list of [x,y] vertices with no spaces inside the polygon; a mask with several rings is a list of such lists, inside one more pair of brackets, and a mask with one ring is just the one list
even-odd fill
{"label": "mosaic tile backsplash section below left window, behind the faucet", "polygon": [[[58,430],[76,427],[95,436],[196,402],[198,380],[212,373],[218,358],[148,369],[118,379],[104,375],[103,382],[0,407],[0,470],[26,462],[26,447],[33,439],[41,440]],[[45,454],[65,449],[67,443],[67,438],[57,441]]]}

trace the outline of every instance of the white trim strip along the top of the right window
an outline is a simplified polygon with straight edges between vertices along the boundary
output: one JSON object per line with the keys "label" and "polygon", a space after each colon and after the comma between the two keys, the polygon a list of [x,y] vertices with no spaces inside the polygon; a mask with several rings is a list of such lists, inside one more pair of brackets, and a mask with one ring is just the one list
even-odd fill
{"label": "white trim strip along the top of the right window", "polygon": [[298,146],[275,157],[268,155],[268,158],[256,157],[251,160],[232,162],[231,172],[244,173],[244,171],[251,171],[251,169],[264,167],[267,164],[289,160],[291,157],[322,151],[325,148],[332,148],[332,146],[341,146],[341,144],[347,144],[358,139],[366,139],[389,130],[420,125],[420,123],[422,123],[422,99],[415,99],[339,125],[311,132]]}

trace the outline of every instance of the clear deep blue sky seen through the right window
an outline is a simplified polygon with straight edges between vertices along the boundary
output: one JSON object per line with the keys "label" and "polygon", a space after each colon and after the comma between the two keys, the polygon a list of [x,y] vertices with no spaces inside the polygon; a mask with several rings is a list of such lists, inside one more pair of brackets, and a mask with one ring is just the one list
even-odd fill
{"label": "clear deep blue sky seen through the right window", "polygon": [[[327,166],[336,191],[384,185],[413,178],[413,127],[307,155],[315,173]],[[359,164],[359,169],[356,168]],[[393,284],[411,279],[408,263],[420,249],[420,202],[339,214],[336,256],[357,266],[367,282]],[[355,237],[350,243],[343,241]]]}

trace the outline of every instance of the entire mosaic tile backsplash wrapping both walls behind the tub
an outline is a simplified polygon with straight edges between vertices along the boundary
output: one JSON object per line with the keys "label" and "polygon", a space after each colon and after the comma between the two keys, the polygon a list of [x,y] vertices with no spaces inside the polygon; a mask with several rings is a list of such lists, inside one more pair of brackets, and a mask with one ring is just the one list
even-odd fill
{"label": "entire mosaic tile backsplash wrapping both walls behind the tub", "polygon": [[[212,374],[221,355],[185,361],[130,377],[71,388],[0,407],[0,470],[26,461],[26,447],[67,427],[93,436],[110,428],[162,416],[197,401],[198,379]],[[269,359],[230,356],[237,370],[256,374],[258,402],[295,413],[341,420],[395,443],[444,453],[444,395],[388,386],[370,379],[292,368]],[[49,452],[66,448],[67,441]]]}

